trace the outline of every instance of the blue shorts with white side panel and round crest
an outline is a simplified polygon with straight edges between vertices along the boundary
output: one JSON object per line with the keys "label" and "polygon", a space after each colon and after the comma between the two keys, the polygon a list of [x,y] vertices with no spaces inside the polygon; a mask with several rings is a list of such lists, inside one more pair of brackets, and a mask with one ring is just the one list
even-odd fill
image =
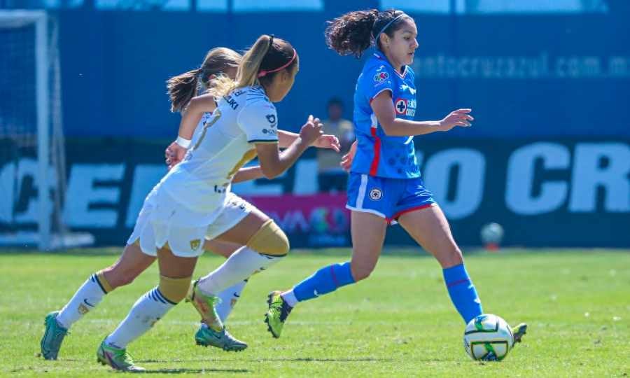
{"label": "blue shorts with white side panel and round crest", "polygon": [[395,223],[409,211],[435,206],[433,195],[424,188],[421,178],[387,179],[351,172],[348,178],[346,208],[363,211]]}

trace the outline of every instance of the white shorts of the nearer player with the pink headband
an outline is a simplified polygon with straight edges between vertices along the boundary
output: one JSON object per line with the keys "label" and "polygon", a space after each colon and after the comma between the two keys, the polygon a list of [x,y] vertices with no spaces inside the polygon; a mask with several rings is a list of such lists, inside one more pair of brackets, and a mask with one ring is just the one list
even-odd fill
{"label": "white shorts of the nearer player with the pink headband", "polygon": [[[204,239],[214,239],[230,230],[253,208],[253,205],[234,193],[228,193],[223,207],[213,211],[213,214],[204,214],[202,217],[204,222],[201,222],[199,226],[181,225],[172,220],[177,218],[190,220],[190,218],[200,217],[200,214],[195,214],[194,211],[177,204],[169,195],[162,192],[158,194],[156,190],[152,190],[144,200],[127,244],[139,241],[143,253],[156,256],[158,248],[168,243],[176,256],[198,257],[204,253]],[[207,220],[211,220],[211,223],[208,224]]]}

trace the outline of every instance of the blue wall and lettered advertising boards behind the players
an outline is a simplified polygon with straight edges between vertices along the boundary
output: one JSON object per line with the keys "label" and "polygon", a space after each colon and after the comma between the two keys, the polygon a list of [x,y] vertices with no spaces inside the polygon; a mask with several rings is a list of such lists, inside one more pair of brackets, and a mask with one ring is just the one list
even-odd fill
{"label": "blue wall and lettered advertising boards behind the players", "polygon": [[[416,119],[441,118],[458,107],[472,108],[476,118],[470,129],[416,139],[426,183],[456,239],[480,244],[482,225],[497,222],[506,245],[629,247],[624,1],[559,1],[592,8],[542,13],[458,8],[475,1],[435,1],[443,6],[423,10],[419,3],[0,0],[3,8],[45,7],[57,16],[68,162],[64,220],[92,233],[97,245],[123,244],[144,195],[165,172],[163,151],[179,123],[169,113],[167,78],[195,68],[209,48],[240,50],[259,34],[275,34],[301,58],[295,87],[278,105],[281,127],[296,131],[309,113],[323,116],[333,96],[344,100],[351,118],[362,60],[325,47],[325,20],[394,6],[419,26]],[[274,216],[293,246],[348,245],[344,194],[317,193],[315,167],[309,151],[280,179],[240,184],[235,192]],[[0,196],[15,202],[18,227],[25,228],[37,211],[28,174],[18,198]],[[396,226],[387,243],[411,240]]]}

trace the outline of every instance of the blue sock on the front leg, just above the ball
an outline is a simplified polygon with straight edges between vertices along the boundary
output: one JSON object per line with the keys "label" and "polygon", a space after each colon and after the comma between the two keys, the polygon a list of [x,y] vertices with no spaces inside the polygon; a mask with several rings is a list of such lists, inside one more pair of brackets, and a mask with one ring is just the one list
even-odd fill
{"label": "blue sock on the front leg, just above the ball", "polygon": [[451,301],[465,323],[468,324],[472,318],[483,314],[481,300],[463,264],[442,269],[442,272]]}

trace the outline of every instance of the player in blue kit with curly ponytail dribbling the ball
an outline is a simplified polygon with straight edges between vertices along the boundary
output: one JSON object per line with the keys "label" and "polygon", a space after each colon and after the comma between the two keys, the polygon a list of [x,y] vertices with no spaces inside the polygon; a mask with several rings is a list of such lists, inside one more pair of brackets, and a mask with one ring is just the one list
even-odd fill
{"label": "player in blue kit with curly ponytail dribbling the ball", "polygon": [[[398,222],[442,266],[455,308],[468,323],[483,313],[477,290],[463,264],[449,223],[416,162],[414,136],[469,127],[470,109],[458,109],[438,121],[414,121],[416,86],[413,62],[418,48],[414,20],[400,10],[359,10],[329,22],[326,43],[339,55],[355,55],[375,45],[356,83],[354,126],[356,155],[351,162],[348,202],[352,258],[323,267],[292,289],[269,294],[265,314],[269,332],[280,337],[290,311],[299,302],[320,297],[370,275],[381,253],[388,224]],[[520,342],[526,324],[513,328]]]}

